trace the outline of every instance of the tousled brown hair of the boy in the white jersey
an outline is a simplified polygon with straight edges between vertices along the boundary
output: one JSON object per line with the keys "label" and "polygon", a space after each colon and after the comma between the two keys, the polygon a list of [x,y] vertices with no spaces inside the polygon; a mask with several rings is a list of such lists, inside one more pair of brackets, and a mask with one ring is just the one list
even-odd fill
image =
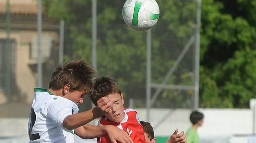
{"label": "tousled brown hair of the boy in the white jersey", "polygon": [[49,88],[59,90],[70,85],[70,92],[83,91],[89,94],[92,91],[97,71],[84,59],[71,60],[60,64],[52,73]]}

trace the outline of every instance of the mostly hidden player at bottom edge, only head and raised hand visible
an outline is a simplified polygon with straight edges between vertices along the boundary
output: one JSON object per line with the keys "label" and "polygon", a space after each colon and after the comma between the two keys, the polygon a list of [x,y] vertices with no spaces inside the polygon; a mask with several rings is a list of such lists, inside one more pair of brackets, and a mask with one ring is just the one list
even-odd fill
{"label": "mostly hidden player at bottom edge, only head and raised hand visible", "polygon": [[[143,126],[143,131],[145,135],[145,140],[148,143],[157,143],[157,139],[155,138],[155,133],[153,127],[149,122],[140,121],[140,124]],[[186,143],[186,135],[182,131],[180,134],[178,133],[178,129],[171,135],[171,137],[166,141],[166,143]]]}

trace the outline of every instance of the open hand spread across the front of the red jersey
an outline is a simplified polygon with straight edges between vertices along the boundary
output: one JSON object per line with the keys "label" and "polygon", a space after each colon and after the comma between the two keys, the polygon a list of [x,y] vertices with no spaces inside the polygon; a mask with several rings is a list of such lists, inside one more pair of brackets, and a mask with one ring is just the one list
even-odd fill
{"label": "open hand spread across the front of the red jersey", "polygon": [[106,131],[112,143],[133,143],[130,136],[123,130],[111,125],[106,126]]}

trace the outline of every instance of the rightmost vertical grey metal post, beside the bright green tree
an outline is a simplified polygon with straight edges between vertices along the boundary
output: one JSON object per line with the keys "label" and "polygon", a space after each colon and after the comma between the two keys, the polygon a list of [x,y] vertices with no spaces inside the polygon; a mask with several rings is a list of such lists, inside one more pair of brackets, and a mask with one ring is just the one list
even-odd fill
{"label": "rightmost vertical grey metal post, beside the bright green tree", "polygon": [[200,70],[200,23],[201,23],[201,0],[197,0],[196,15],[196,47],[195,47],[195,89],[194,89],[194,109],[199,106],[199,70]]}

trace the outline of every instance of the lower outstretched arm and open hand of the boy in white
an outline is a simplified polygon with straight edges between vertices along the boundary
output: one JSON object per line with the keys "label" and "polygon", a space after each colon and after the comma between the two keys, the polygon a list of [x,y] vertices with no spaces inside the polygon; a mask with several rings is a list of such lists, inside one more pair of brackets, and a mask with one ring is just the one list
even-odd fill
{"label": "lower outstretched arm and open hand of the boy in white", "polygon": [[117,141],[120,143],[133,143],[132,139],[126,132],[111,125],[84,125],[75,129],[75,134],[82,139],[93,139],[108,134],[112,143],[117,143]]}

